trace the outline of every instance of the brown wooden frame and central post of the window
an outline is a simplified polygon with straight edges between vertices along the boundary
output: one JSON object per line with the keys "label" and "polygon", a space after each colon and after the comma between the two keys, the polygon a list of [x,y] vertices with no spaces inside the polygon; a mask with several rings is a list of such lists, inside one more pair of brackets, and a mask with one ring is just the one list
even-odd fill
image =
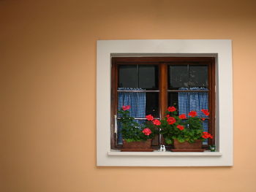
{"label": "brown wooden frame and central post of the window", "polygon": [[[111,133],[110,133],[110,145],[111,149],[120,149],[121,145],[117,145],[115,135],[115,118],[117,114],[117,89],[118,89],[118,65],[129,65],[129,64],[154,64],[159,65],[159,116],[164,117],[165,111],[168,104],[168,93],[169,92],[181,92],[168,90],[168,65],[177,64],[196,64],[196,65],[208,65],[208,109],[210,112],[208,132],[214,136],[214,139],[208,141],[208,145],[215,144],[215,114],[216,114],[216,69],[215,69],[215,58],[214,57],[113,57],[111,58]],[[183,91],[184,92],[184,91]],[[189,91],[185,91],[189,92]],[[191,91],[190,91],[191,92]],[[199,92],[199,91],[193,91]],[[161,136],[159,137],[159,140]],[[208,147],[204,145],[204,147]]]}

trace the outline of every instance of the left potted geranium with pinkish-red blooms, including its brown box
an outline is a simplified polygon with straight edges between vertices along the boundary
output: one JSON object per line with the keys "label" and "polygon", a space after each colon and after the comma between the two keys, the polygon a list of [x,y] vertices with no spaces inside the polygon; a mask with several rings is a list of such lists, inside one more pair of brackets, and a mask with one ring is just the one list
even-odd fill
{"label": "left potted geranium with pinkish-red blooms, including its brown box", "polygon": [[148,127],[146,123],[140,125],[129,115],[130,106],[123,106],[118,110],[121,116],[121,134],[123,137],[123,147],[121,151],[153,151],[151,140],[157,133],[156,128]]}

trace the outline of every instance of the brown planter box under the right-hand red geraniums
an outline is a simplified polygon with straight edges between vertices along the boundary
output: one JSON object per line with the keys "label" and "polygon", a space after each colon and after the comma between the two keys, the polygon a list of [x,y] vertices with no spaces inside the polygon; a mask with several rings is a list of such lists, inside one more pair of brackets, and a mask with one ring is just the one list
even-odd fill
{"label": "brown planter box under the right-hand red geraniums", "polygon": [[203,152],[202,141],[196,140],[193,143],[189,142],[178,142],[177,139],[174,139],[174,149],[171,149],[173,152]]}

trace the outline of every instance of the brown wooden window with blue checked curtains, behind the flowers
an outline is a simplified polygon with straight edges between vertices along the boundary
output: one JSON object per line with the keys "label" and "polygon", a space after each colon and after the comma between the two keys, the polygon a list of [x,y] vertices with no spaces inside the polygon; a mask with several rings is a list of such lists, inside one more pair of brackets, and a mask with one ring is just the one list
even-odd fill
{"label": "brown wooden window with blue checked curtains, behind the flowers", "polygon": [[[204,131],[215,134],[215,58],[214,57],[113,57],[111,69],[111,148],[121,147],[121,126],[115,123],[117,110],[130,105],[138,123],[146,115],[162,118],[168,106],[175,106],[179,115],[208,109],[210,118],[203,122]],[[117,118],[115,118],[117,117]],[[118,128],[115,127],[118,125]],[[205,140],[203,147],[214,145]],[[152,142],[159,148],[161,135]]]}

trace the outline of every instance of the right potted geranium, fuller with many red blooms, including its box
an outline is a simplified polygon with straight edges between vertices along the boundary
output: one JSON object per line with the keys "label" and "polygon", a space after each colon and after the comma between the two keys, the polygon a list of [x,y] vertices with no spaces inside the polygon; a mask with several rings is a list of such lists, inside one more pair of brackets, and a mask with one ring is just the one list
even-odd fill
{"label": "right potted geranium, fuller with many red blooms, including its box", "polygon": [[[208,116],[208,110],[202,110]],[[204,139],[212,139],[208,132],[203,131],[203,120],[198,118],[197,112],[191,111],[188,115],[178,115],[176,107],[168,107],[166,116],[162,120],[154,120],[154,117],[147,115],[154,126],[159,128],[167,144],[173,144],[172,151],[204,151],[202,142]]]}

